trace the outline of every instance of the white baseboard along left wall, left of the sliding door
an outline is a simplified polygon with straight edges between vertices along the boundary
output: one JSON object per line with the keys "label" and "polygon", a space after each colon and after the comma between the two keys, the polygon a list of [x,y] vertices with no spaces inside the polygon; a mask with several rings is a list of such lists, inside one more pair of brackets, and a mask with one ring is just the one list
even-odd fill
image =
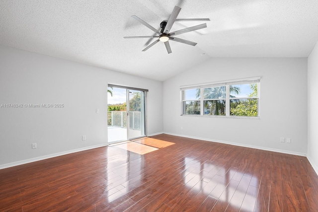
{"label": "white baseboard along left wall, left of the sliding door", "polygon": [[78,148],[78,149],[72,149],[69,151],[63,151],[63,152],[58,152],[58,153],[54,153],[54,154],[44,155],[44,156],[40,156],[40,157],[34,157],[34,158],[26,159],[26,160],[20,160],[20,161],[0,165],[0,169],[5,169],[5,168],[13,167],[13,166],[18,166],[18,165],[22,165],[22,164],[26,164],[26,163],[31,163],[31,162],[35,162],[35,161],[39,161],[39,160],[44,160],[44,159],[57,157],[57,156],[70,154],[70,153],[75,153],[75,152],[79,152],[79,151],[84,151],[84,150],[88,150],[88,149],[103,147],[103,146],[107,146],[107,145],[108,145],[108,143],[103,143],[103,144],[87,146],[87,147]]}

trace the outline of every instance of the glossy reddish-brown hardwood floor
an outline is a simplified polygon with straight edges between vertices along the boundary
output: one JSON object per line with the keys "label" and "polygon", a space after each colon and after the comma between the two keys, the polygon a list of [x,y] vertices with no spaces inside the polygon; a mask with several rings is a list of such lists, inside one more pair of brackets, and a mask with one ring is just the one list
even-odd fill
{"label": "glossy reddish-brown hardwood floor", "polygon": [[[169,135],[0,170],[0,211],[318,212],[306,157]],[[155,143],[154,141],[152,141]]]}

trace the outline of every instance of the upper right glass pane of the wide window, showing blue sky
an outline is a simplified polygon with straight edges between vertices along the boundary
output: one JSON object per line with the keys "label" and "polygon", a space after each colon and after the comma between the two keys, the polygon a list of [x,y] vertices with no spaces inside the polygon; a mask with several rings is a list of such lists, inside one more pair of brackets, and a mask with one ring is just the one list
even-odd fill
{"label": "upper right glass pane of the wide window, showing blue sky", "polygon": [[230,98],[257,97],[257,83],[230,85]]}

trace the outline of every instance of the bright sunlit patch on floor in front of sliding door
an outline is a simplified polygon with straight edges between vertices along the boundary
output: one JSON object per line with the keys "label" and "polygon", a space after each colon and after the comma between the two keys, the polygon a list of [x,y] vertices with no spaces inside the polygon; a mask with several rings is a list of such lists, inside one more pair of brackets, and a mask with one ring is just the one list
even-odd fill
{"label": "bright sunlit patch on floor in front of sliding door", "polygon": [[117,144],[116,146],[128,151],[132,151],[138,154],[146,154],[152,151],[156,151],[159,148],[164,148],[174,144],[173,142],[161,141],[152,138],[141,138],[133,141],[127,141],[124,143]]}

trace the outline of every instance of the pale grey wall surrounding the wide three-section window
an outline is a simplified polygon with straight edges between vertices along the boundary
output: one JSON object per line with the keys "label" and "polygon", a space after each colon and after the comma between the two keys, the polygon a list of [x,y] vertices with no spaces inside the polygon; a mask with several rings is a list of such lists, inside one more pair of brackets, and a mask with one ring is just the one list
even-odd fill
{"label": "pale grey wall surrounding the wide three-section window", "polygon": [[[254,76],[261,76],[260,119],[180,116],[180,86]],[[163,82],[163,126],[167,134],[305,155],[307,58],[210,59]]]}

